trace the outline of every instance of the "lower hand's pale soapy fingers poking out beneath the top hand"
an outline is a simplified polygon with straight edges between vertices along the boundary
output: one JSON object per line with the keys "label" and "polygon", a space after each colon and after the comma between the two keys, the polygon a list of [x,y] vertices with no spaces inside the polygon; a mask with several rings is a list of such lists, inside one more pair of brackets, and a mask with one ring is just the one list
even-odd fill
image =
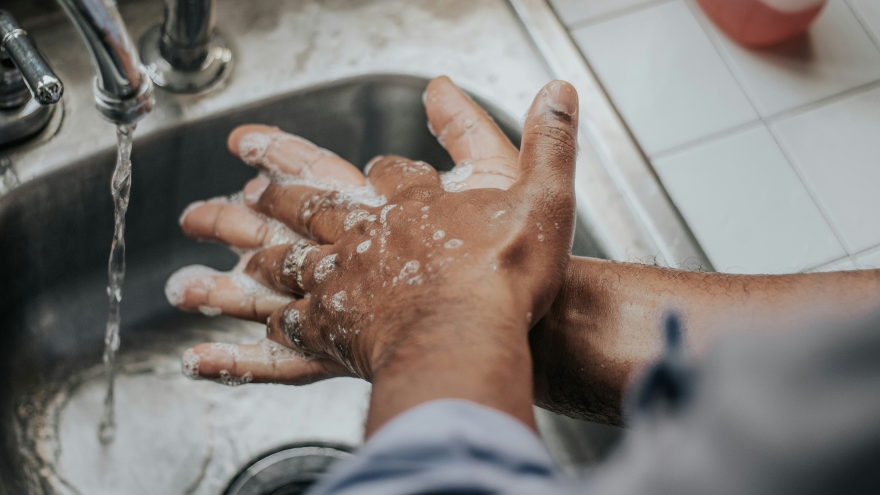
{"label": "lower hand's pale soapy fingers poking out beneath the top hand", "polygon": [[[425,107],[429,129],[449,151],[455,163],[471,166],[473,171],[461,180],[465,188],[507,189],[517,178],[519,150],[510,143],[502,130],[482,108],[452,84],[446,77],[436,78],[428,85]],[[258,153],[253,141],[274,141],[265,153]],[[243,138],[246,145],[240,146]],[[248,143],[250,141],[250,143]],[[276,128],[245,125],[229,137],[230,151],[254,166],[272,167],[295,177],[309,176],[341,188],[357,188],[366,184],[361,172],[333,153],[321,150],[296,137],[287,137]],[[245,195],[259,190],[250,184]],[[214,240],[238,250],[252,251],[285,240],[300,239],[286,225],[264,217],[246,205],[243,198],[216,198],[191,205],[181,215],[181,226],[187,236]],[[250,255],[242,257],[236,270],[219,273],[215,270],[181,270],[169,281],[169,300],[190,311],[227,314],[253,321],[266,321],[269,314],[293,299],[290,294],[255,290],[243,272]],[[234,350],[231,352],[231,350]],[[265,358],[259,345],[211,346],[196,348],[194,362],[199,358],[200,372],[205,377],[218,377],[222,370],[238,376],[250,373],[254,381],[305,384],[333,376],[348,376],[348,370],[330,360]],[[248,356],[249,358],[245,358]]]}

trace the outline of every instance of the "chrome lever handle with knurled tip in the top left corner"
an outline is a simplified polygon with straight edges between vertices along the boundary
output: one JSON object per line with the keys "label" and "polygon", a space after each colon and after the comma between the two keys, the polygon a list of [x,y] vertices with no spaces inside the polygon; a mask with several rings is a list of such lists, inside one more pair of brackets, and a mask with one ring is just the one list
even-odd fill
{"label": "chrome lever handle with knurled tip in the top left corner", "polygon": [[[27,32],[9,12],[0,10],[0,55],[8,56],[21,72],[33,99],[40,105],[51,105],[61,100],[64,85],[49,67],[46,59],[33,45]],[[10,88],[11,89],[11,88]],[[0,93],[4,87],[0,83]]]}

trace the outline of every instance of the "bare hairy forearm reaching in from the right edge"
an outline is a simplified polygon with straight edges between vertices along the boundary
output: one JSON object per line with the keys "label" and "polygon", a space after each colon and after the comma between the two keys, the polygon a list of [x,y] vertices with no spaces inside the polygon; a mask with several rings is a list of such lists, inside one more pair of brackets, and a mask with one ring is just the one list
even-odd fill
{"label": "bare hairy forearm reaching in from the right edge", "polygon": [[670,310],[699,354],[730,332],[796,329],[878,304],[880,270],[726,275],[573,257],[554,306],[530,335],[536,402],[620,424],[622,392],[661,350],[660,321]]}

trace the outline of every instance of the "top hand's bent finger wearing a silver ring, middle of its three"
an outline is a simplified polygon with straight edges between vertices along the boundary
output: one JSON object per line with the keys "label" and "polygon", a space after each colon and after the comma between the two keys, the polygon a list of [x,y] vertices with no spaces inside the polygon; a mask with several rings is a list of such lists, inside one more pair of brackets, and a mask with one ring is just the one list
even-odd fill
{"label": "top hand's bent finger wearing a silver ring, middle of its three", "polygon": [[[317,247],[317,248],[313,248]],[[302,285],[297,279],[297,263],[302,258]],[[300,241],[260,249],[248,260],[245,273],[260,284],[278,292],[304,294],[331,277],[338,268],[332,246],[316,246]]]}

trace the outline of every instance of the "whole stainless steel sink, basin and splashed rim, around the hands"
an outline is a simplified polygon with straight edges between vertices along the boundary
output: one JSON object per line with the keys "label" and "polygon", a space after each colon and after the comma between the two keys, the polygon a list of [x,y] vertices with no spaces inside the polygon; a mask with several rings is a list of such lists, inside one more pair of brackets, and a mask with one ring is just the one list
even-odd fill
{"label": "whole stainless steel sink, basin and splashed rim, around the hands", "polygon": [[[258,324],[181,314],[165,301],[165,280],[180,266],[235,262],[224,247],[185,239],[180,211],[230,194],[255,174],[225,151],[238,124],[277,125],[358,166],[399,153],[448,169],[451,160],[425,125],[428,78],[451,76],[518,141],[512,115],[524,115],[554,76],[540,42],[550,12],[543,0],[511,0],[515,9],[502,0],[217,3],[218,26],[237,52],[231,78],[207,94],[159,93],[136,132],[119,430],[109,447],[100,446],[97,429],[114,132],[92,108],[88,55],[72,27],[51,17],[26,24],[67,89],[57,131],[0,150],[0,494],[219,495],[253,462],[288,447],[356,447],[370,393],[363,381],[227,388],[180,374],[188,346],[256,342],[263,333]],[[126,2],[122,11],[138,37],[161,17],[161,3]],[[577,84],[582,113],[602,100]],[[630,158],[628,168],[615,172],[613,160],[600,159],[614,153],[594,150],[602,144],[590,130],[595,122],[586,113],[582,120],[574,252],[688,253],[680,232],[658,231],[664,224],[651,223],[645,202],[629,194],[630,180],[653,191],[652,176],[637,174],[632,152],[620,155]],[[647,211],[662,212],[662,201],[651,201]],[[656,250],[666,246],[657,232],[671,232],[678,244]],[[539,425],[568,469],[594,462],[618,434],[546,411]]]}

